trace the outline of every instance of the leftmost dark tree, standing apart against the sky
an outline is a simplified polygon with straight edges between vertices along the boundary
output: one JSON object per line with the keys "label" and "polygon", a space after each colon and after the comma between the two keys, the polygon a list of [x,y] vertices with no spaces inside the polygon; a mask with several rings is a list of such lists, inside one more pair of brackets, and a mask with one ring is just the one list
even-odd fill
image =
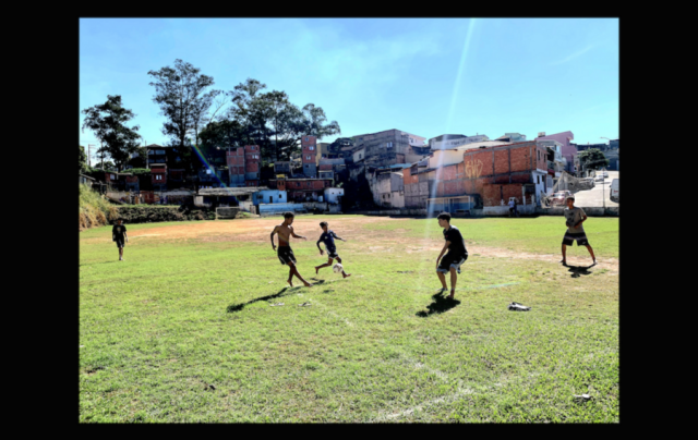
{"label": "leftmost dark tree, standing apart against the sky", "polygon": [[135,118],[133,111],[123,108],[120,95],[108,95],[103,105],[89,107],[82,111],[86,115],[82,131],[89,129],[103,142],[97,149],[103,157],[108,155],[120,171],[129,161],[131,154],[139,149],[139,125],[128,127],[127,122]]}

